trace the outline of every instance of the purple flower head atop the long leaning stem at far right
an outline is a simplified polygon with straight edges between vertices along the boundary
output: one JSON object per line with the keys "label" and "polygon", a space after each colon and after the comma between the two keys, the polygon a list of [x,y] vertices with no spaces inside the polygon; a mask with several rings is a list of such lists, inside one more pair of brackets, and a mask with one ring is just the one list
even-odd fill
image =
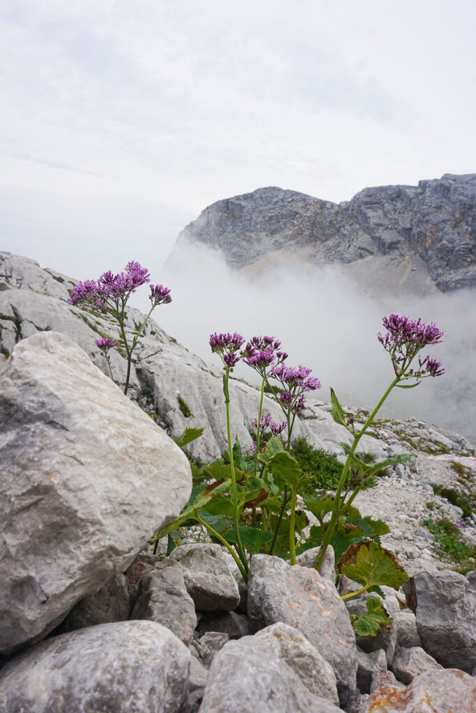
{"label": "purple flower head atop the long leaning stem at far right", "polygon": [[425,356],[418,357],[419,368],[409,369],[410,362],[420,349],[428,344],[439,344],[442,341],[444,332],[435,324],[425,324],[421,319],[410,319],[410,317],[399,317],[397,314],[390,314],[383,317],[383,326],[388,331],[385,335],[378,333],[378,340],[383,348],[389,352],[395,374],[406,379],[423,379],[425,376],[441,376],[445,374],[440,361],[430,359]]}

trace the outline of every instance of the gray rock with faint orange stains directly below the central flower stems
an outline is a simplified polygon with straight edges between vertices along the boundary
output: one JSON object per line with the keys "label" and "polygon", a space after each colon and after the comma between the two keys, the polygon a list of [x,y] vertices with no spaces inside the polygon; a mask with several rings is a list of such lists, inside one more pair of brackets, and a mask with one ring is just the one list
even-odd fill
{"label": "gray rock with faint orange stains directly below the central flower stems", "polygon": [[283,622],[302,632],[333,667],[340,701],[355,690],[355,635],[343,600],[316,570],[268,555],[254,555],[248,613],[262,625]]}

